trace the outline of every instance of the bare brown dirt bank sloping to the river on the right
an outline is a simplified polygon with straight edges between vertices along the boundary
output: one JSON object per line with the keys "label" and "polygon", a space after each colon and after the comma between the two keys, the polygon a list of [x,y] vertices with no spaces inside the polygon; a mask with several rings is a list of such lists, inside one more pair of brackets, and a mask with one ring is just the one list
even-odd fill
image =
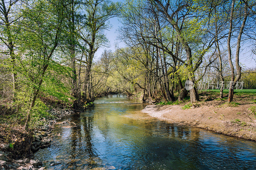
{"label": "bare brown dirt bank sloping to the river on the right", "polygon": [[[206,95],[207,96],[207,95]],[[211,96],[215,98],[215,96]],[[256,94],[234,95],[237,106],[227,106],[227,100],[202,98],[196,106],[182,109],[179,105],[148,105],[142,112],[170,123],[192,125],[238,138],[256,141],[256,116],[248,110],[256,106]],[[216,96],[217,98],[217,96]]]}

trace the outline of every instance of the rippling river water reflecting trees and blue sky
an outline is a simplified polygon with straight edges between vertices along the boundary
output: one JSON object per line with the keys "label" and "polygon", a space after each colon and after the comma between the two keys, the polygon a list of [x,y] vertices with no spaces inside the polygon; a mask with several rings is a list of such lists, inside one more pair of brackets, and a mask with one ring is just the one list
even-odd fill
{"label": "rippling river water reflecting trees and blue sky", "polygon": [[[114,95],[59,124],[50,148],[36,153],[47,169],[254,169],[256,143],[166,124],[141,113],[145,104]],[[54,160],[60,163],[49,166]]]}

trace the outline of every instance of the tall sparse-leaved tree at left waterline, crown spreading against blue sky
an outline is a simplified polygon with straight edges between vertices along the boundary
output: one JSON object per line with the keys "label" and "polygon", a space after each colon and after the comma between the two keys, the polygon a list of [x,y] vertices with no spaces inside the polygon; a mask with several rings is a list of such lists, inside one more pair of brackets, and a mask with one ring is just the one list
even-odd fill
{"label": "tall sparse-leaved tree at left waterline, crown spreading against blue sky", "polygon": [[94,54],[101,46],[105,46],[108,42],[103,31],[110,26],[108,20],[117,16],[119,4],[114,4],[108,0],[86,0],[84,1],[82,10],[84,11],[84,19],[81,21],[80,27],[78,28],[78,36],[84,44],[80,47],[82,47],[82,50],[86,53],[86,71],[83,89],[83,98],[86,101],[87,97],[89,100],[92,98],[90,77]]}

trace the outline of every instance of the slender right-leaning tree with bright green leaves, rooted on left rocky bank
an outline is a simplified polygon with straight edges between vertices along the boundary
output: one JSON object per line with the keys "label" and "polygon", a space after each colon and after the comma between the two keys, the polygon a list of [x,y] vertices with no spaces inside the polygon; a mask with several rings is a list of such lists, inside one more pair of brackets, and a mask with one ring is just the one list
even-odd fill
{"label": "slender right-leaning tree with bright green leaves, rooted on left rocky bank", "polygon": [[30,96],[25,128],[53,55],[60,44],[63,26],[63,1],[38,0],[26,4],[19,37],[19,72],[27,81]]}

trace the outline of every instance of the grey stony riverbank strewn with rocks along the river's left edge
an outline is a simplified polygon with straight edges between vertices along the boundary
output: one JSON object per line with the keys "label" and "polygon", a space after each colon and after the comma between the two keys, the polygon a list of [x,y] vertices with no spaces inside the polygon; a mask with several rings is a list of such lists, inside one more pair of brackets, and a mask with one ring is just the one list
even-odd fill
{"label": "grey stony riverbank strewn with rocks along the river's left edge", "polygon": [[[93,103],[88,103],[84,110],[92,107]],[[34,157],[34,154],[39,149],[43,149],[45,147],[51,146],[51,133],[54,128],[54,124],[57,123],[58,120],[62,119],[65,116],[74,114],[75,112],[80,112],[81,110],[73,110],[69,108],[53,108],[48,110],[49,116],[45,118],[41,118],[41,121],[44,121],[45,124],[38,125],[36,130],[32,133],[28,133],[26,138],[21,139],[22,141],[27,141],[29,139],[30,142],[17,142],[14,144],[0,144],[0,170],[43,170],[45,169],[43,166],[43,162]],[[63,123],[69,123],[64,121]],[[14,152],[13,147],[17,148]],[[17,150],[18,147],[30,147],[26,151],[30,154],[23,154],[22,151],[19,152]],[[51,166],[55,166],[57,163],[51,164]]]}

